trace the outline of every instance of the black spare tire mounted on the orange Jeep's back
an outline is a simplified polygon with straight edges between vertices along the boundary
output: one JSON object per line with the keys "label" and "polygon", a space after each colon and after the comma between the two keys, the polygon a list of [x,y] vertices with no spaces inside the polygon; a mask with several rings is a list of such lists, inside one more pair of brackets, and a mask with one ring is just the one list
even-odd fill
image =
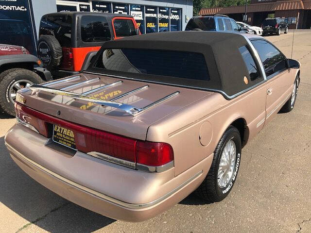
{"label": "black spare tire mounted on the orange Jeep's back", "polygon": [[38,40],[37,56],[47,68],[58,67],[63,50],[58,40],[52,35],[41,35]]}

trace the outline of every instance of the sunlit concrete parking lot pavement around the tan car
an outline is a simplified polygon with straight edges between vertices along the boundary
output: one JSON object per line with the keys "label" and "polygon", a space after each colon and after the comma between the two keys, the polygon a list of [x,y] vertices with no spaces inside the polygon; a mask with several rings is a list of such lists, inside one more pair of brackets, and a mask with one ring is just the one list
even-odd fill
{"label": "sunlit concrete parking lot pavement around the tan car", "polygon": [[[292,30],[265,38],[291,58]],[[4,135],[16,120],[0,113],[0,232],[310,233],[311,30],[295,31],[293,59],[301,63],[294,110],[278,114],[243,148],[238,179],[229,196],[206,204],[191,194],[140,223],[86,210],[28,177],[4,146]]]}

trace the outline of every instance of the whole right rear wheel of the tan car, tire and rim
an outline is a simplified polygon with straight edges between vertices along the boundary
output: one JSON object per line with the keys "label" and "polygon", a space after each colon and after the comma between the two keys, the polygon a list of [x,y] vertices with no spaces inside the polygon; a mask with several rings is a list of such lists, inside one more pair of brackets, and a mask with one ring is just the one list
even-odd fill
{"label": "whole right rear wheel of the tan car, tire and rim", "polygon": [[230,126],[220,139],[212,165],[195,194],[208,203],[224,200],[237,178],[241,161],[241,136],[237,128]]}

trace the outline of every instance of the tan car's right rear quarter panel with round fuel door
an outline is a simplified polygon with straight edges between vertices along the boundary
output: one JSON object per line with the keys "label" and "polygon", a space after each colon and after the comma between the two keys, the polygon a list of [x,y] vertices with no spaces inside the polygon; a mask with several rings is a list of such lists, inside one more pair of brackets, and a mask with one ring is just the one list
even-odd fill
{"label": "tan car's right rear quarter panel with round fuel door", "polygon": [[[233,100],[213,93],[152,124],[147,140],[172,145],[177,176],[213,154],[223,133],[234,120],[243,118],[246,123],[245,143],[259,133],[263,127],[262,119],[265,118],[265,105],[265,83]],[[199,138],[203,124],[208,131],[204,132],[205,146],[201,145]]]}

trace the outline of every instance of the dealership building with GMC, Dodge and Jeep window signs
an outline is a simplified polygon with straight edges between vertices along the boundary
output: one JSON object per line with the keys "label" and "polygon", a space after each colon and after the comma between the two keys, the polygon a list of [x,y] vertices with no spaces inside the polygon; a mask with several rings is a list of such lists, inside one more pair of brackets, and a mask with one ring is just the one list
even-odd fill
{"label": "dealership building with GMC, Dodge and Jeep window signs", "polygon": [[35,54],[41,17],[64,11],[132,15],[141,33],[182,31],[192,17],[193,0],[0,0],[0,20],[10,22],[1,25],[0,43],[10,41],[1,31],[29,33],[31,42],[24,47]]}

